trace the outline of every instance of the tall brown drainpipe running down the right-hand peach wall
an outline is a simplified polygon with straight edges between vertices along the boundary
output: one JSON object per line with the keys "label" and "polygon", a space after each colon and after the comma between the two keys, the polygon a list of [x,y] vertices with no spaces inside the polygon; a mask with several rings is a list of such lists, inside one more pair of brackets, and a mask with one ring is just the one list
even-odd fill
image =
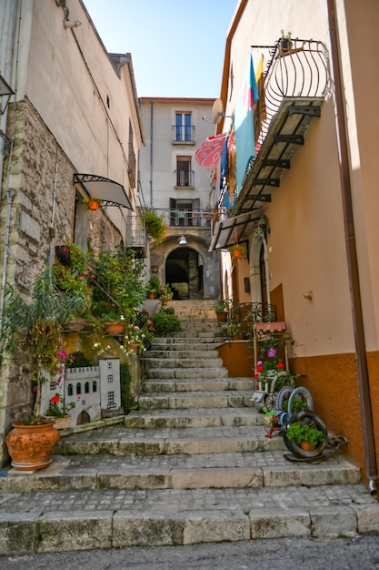
{"label": "tall brown drainpipe running down the right-hand peach wall", "polygon": [[367,370],[367,355],[364,340],[364,318],[362,312],[361,290],[359,283],[358,260],[354,235],[354,214],[352,188],[349,168],[349,154],[344,112],[343,82],[341,72],[341,54],[335,20],[335,0],[327,0],[329,34],[331,42],[332,66],[335,86],[335,107],[338,148],[340,153],[340,177],[344,212],[344,235],[349,274],[356,368],[358,375],[361,403],[362,425],[364,431],[364,457],[370,494],[377,494],[377,468],[374,447],[374,426],[370,400],[370,387]]}

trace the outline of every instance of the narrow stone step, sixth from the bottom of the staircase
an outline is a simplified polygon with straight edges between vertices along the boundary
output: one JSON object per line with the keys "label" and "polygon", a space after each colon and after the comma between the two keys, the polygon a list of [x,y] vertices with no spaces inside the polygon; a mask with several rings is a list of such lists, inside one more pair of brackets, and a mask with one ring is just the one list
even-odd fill
{"label": "narrow stone step, sixth from the bottom of the staircase", "polygon": [[223,390],[250,390],[254,382],[251,378],[196,378],[191,380],[147,380],[143,392],[220,392]]}

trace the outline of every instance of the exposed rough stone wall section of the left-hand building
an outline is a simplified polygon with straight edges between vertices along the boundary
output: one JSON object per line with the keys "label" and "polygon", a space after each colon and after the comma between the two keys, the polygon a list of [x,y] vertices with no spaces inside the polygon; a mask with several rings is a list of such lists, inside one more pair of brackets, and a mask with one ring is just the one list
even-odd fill
{"label": "exposed rough stone wall section of the left-hand building", "polygon": [[[69,117],[67,117],[69,128]],[[15,132],[13,132],[15,129]],[[7,137],[14,137],[14,148],[5,156],[3,188],[9,171],[9,188],[13,188],[9,223],[7,282],[25,299],[31,286],[49,260],[54,260],[55,245],[72,241],[75,223],[75,188],[73,165],[60,148],[51,131],[24,99],[10,106]],[[84,152],[88,152],[87,149]],[[5,193],[0,204],[0,232],[5,235],[7,215]],[[105,211],[88,212],[88,239],[95,249],[112,249],[122,237]],[[0,277],[3,279],[4,240],[0,242]],[[0,447],[11,422],[22,419],[31,410],[30,370],[25,354],[5,357],[0,371]],[[5,449],[3,446],[4,460]]]}

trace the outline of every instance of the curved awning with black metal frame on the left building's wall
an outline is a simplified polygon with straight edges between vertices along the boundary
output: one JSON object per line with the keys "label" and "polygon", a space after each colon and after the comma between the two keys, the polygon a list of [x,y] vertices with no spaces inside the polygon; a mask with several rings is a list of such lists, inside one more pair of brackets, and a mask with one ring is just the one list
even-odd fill
{"label": "curved awning with black metal frame on the left building's wall", "polygon": [[104,206],[121,206],[122,208],[133,210],[124,186],[114,180],[96,176],[95,174],[75,173],[73,184],[74,186],[75,184],[80,184],[85,188],[88,196],[101,199]]}

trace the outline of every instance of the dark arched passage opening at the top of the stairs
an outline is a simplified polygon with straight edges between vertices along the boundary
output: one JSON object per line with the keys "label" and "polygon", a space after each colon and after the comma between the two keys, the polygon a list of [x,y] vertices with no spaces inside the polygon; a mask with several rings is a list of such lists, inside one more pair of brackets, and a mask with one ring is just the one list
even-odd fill
{"label": "dark arched passage opening at the top of the stairs", "polygon": [[174,299],[204,299],[204,260],[193,248],[175,248],[165,260],[165,282]]}

